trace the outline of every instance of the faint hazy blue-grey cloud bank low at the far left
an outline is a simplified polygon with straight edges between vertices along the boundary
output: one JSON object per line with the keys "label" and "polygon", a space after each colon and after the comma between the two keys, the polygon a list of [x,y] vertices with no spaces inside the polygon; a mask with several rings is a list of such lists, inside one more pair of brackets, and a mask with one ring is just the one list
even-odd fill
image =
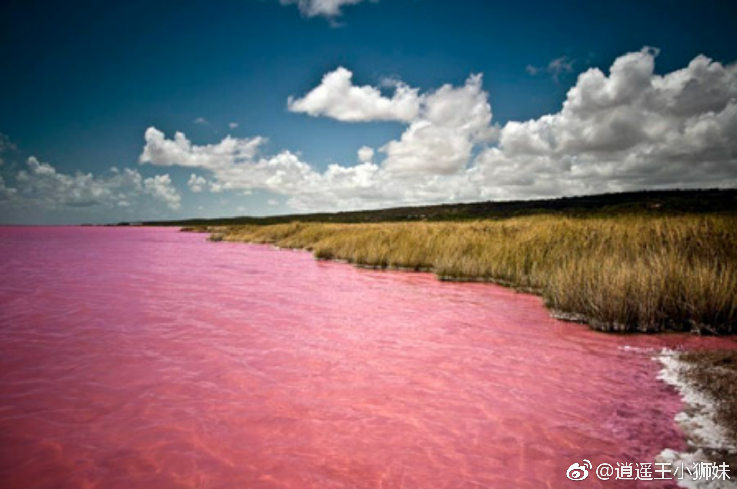
{"label": "faint hazy blue-grey cloud bank low at the far left", "polygon": [[0,182],[5,204],[36,208],[129,207],[141,197],[152,197],[170,209],[181,206],[181,197],[169,175],[144,178],[135,169],[111,169],[106,175],[57,172],[49,163],[31,156],[27,167],[15,175],[15,186]]}

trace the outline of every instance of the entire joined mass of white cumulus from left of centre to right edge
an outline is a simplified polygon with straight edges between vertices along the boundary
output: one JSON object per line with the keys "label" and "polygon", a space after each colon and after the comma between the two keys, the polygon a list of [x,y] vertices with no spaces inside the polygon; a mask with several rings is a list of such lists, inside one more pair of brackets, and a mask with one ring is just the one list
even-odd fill
{"label": "entire joined mass of white cumulus from left of centre to right edge", "polygon": [[379,161],[361,147],[359,163],[318,171],[288,150],[262,155],[258,136],[199,146],[153,127],[141,161],[200,168],[212,191],[270,191],[299,211],[737,185],[737,67],[697,56],[657,75],[656,56],[646,48],[618,57],[608,73],[590,68],[561,110],[503,127],[492,123],[480,75],[422,94],[405,87],[413,99],[405,113],[396,93],[355,87],[345,70],[342,81],[324,79],[324,91],[290,105],[339,120],[405,123]]}

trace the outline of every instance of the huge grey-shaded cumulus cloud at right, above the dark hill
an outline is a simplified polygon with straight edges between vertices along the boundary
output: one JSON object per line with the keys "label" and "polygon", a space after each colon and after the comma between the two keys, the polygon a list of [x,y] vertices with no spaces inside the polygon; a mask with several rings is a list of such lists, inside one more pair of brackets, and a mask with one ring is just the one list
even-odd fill
{"label": "huge grey-shaded cumulus cloud at right, above the dark hill", "polygon": [[608,76],[590,68],[562,110],[506,124],[479,155],[486,178],[532,194],[734,185],[737,66],[697,56],[659,76],[656,55],[618,57]]}

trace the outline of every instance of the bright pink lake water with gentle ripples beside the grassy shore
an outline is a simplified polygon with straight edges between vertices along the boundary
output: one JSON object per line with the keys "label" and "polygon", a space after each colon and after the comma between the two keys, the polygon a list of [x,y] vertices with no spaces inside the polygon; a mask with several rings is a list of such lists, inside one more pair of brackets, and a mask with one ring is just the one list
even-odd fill
{"label": "bright pink lake water with gentle ripples beside the grassy shore", "polygon": [[621,347],[734,345],[205,237],[0,228],[1,487],[581,487],[683,446]]}

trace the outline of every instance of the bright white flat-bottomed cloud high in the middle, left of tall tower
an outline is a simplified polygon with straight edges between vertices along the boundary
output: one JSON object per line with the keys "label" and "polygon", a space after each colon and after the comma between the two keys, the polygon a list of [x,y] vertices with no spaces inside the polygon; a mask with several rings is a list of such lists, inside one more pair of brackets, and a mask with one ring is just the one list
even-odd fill
{"label": "bright white flat-bottomed cloud high in the middle, left of tall tower", "polygon": [[371,85],[354,85],[352,78],[353,73],[342,66],[330,71],[304,97],[290,97],[289,110],[343,122],[408,122],[417,116],[421,99],[416,88],[397,82],[390,99]]}

